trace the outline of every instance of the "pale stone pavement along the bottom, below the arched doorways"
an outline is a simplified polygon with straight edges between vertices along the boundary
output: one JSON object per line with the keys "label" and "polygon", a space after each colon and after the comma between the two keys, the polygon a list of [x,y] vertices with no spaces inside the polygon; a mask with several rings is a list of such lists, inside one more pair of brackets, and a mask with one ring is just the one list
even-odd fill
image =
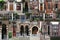
{"label": "pale stone pavement along the bottom, below the arched doorways", "polygon": [[[1,33],[0,33],[0,40],[1,39]],[[30,35],[30,36],[19,36],[17,35],[17,37],[13,37],[13,38],[9,38],[9,39],[3,39],[3,40],[50,40],[50,37],[48,35],[45,35],[45,39],[44,39],[44,35],[38,34],[38,35]]]}

